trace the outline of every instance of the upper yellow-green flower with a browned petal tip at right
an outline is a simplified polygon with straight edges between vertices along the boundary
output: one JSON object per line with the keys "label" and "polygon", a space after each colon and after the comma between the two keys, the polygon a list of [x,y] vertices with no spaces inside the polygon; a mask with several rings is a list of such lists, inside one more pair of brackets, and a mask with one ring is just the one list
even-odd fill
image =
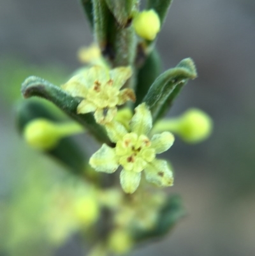
{"label": "upper yellow-green flower with a browned petal tip at right", "polygon": [[96,122],[105,124],[112,121],[117,114],[118,105],[128,100],[135,102],[132,89],[120,90],[131,75],[130,67],[120,66],[109,70],[103,66],[93,66],[72,77],[62,89],[73,97],[84,98],[77,107],[78,114],[95,112]]}

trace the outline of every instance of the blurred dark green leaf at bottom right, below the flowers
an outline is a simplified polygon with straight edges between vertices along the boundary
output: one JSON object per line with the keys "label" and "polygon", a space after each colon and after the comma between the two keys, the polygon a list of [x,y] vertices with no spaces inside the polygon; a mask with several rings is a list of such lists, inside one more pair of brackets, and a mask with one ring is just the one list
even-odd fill
{"label": "blurred dark green leaf at bottom right, below the flowers", "polygon": [[186,215],[179,195],[171,195],[159,211],[156,227],[152,230],[137,230],[133,232],[136,242],[159,238],[166,235],[181,218]]}

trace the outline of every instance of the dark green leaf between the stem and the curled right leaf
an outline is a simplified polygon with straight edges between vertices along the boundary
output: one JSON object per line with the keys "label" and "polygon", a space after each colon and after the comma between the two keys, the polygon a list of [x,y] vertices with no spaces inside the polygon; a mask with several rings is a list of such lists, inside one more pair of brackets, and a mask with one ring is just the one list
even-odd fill
{"label": "dark green leaf between the stem and the curled right leaf", "polygon": [[139,105],[150,89],[151,84],[161,72],[161,58],[156,49],[147,57],[142,68],[138,70],[136,86],[136,103]]}

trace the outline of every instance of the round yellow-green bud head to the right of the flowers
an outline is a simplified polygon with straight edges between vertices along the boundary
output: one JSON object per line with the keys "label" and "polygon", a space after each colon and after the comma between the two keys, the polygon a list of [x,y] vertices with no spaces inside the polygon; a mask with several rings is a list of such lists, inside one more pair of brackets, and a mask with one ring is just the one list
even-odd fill
{"label": "round yellow-green bud head to the right of the flowers", "polygon": [[212,119],[199,109],[187,110],[180,117],[178,123],[178,130],[176,132],[186,142],[200,142],[207,139],[212,133]]}

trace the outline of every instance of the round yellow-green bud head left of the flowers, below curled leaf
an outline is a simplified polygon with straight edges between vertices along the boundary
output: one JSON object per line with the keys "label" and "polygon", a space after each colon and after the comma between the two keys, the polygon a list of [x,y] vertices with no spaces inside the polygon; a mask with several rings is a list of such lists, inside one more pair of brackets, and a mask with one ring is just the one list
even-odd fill
{"label": "round yellow-green bud head left of the flowers, below curled leaf", "polygon": [[47,119],[35,119],[25,126],[24,138],[36,149],[47,150],[54,148],[59,142],[59,130]]}

